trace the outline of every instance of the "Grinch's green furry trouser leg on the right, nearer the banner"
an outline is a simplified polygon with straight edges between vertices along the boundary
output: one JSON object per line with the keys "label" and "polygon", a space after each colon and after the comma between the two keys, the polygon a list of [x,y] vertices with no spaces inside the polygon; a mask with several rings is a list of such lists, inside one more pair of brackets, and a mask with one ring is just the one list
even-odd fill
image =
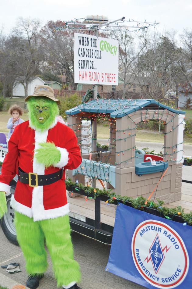
{"label": "Grinch's green furry trouser leg on the right, nearer the banner", "polygon": [[69,216],[42,220],[41,227],[45,235],[47,248],[51,255],[54,276],[58,287],[68,285],[72,281],[81,280],[79,264],[73,259],[73,245]]}

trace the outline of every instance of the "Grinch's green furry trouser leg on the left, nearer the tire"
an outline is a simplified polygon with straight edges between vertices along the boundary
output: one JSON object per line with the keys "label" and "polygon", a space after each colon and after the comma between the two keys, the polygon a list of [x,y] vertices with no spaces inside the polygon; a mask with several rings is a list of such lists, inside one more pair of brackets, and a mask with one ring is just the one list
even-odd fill
{"label": "Grinch's green furry trouser leg on the left, nearer the tire", "polygon": [[47,252],[44,248],[44,234],[39,222],[15,212],[17,240],[26,260],[29,274],[44,273],[47,269]]}

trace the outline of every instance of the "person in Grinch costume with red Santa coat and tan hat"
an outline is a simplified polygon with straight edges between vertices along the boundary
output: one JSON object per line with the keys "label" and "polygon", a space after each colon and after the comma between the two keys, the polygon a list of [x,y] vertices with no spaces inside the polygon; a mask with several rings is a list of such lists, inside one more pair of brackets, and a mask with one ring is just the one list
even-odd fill
{"label": "person in Grinch costume with red Santa coat and tan hat", "polygon": [[10,140],[0,175],[0,218],[6,212],[9,183],[18,174],[11,206],[15,210],[17,240],[30,274],[27,287],[34,289],[47,269],[51,255],[58,287],[78,289],[81,273],[73,259],[65,169],[77,168],[82,159],[73,130],[58,122],[54,91],[37,85],[25,101],[29,121],[19,124]]}

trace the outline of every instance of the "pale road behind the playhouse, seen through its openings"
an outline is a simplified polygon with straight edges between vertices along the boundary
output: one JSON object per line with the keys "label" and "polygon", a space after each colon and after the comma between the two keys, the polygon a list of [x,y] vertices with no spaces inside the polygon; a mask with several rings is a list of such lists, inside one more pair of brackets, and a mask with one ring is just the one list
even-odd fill
{"label": "pale road behind the playhouse, seen through its openings", "polygon": [[[109,140],[106,138],[98,138],[98,143],[101,145],[109,144]],[[155,150],[156,153],[162,151],[163,143],[150,142],[150,141],[136,141],[136,147],[138,149],[149,148],[149,151]],[[190,156],[192,158],[192,145],[183,145],[183,155]]]}

